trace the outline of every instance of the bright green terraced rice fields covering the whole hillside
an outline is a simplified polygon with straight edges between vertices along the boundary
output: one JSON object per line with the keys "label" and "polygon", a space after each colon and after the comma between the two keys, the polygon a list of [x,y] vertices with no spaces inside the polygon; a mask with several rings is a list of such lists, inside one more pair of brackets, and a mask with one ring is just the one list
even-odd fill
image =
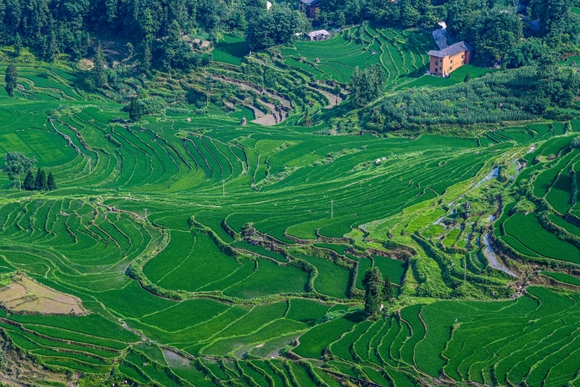
{"label": "bright green terraced rice fields covering the whole hillside", "polygon": [[[48,385],[67,373],[86,385],[577,382],[580,121],[415,137],[301,126],[304,104],[322,116],[342,102],[356,66],[380,64],[393,92],[487,71],[423,76],[431,42],[370,25],[296,42],[276,71],[308,91],[266,98],[236,83],[248,63],[229,36],[207,73],[248,93],[234,110],[170,105],[138,123],[64,65],[19,64],[16,97],[0,90],[0,153],[34,157],[58,189],[0,175],[0,282],[24,273],[83,313],[30,313],[45,312],[41,295],[2,298],[8,288],[0,341]],[[147,87],[185,93],[164,74]],[[239,123],[259,106],[282,114],[268,106],[283,97],[282,123]],[[369,268],[397,297],[372,318]]]}

